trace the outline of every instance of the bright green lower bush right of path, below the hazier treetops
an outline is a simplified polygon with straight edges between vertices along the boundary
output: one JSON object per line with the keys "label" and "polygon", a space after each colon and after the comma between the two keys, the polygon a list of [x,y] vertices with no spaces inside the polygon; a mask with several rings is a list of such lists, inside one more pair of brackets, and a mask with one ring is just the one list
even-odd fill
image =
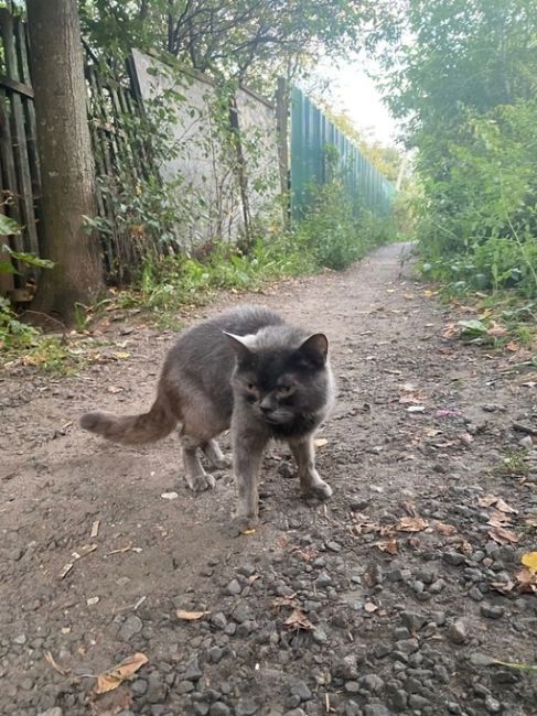
{"label": "bright green lower bush right of path, below the hazier treetops", "polygon": [[[441,175],[423,180],[427,271],[459,288],[537,295],[536,124],[536,100],[468,115],[444,147]],[[430,159],[426,151],[421,161]]]}

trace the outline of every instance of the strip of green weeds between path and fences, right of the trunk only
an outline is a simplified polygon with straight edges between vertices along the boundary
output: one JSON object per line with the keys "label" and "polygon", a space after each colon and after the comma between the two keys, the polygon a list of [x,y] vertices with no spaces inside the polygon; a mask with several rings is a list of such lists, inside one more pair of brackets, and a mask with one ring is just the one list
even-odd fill
{"label": "strip of green weeds between path and fences, right of the trunk only", "polygon": [[230,243],[200,247],[191,256],[147,262],[135,290],[119,294],[120,305],[141,305],[168,323],[184,305],[205,302],[216,290],[258,290],[278,279],[341,270],[383,242],[393,240],[391,217],[363,210],[358,217],[339,181],[316,191],[313,208],[296,228],[265,226],[248,251]]}

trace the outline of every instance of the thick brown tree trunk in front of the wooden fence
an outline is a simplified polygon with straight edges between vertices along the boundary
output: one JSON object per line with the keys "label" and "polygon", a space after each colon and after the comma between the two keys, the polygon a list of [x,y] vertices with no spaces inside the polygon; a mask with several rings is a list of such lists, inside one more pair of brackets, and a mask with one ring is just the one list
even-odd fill
{"label": "thick brown tree trunk in front of the wooden fence", "polygon": [[98,237],[83,229],[95,215],[95,172],[76,0],[28,0],[32,83],[42,180],[41,273],[32,308],[73,323],[75,304],[103,289]]}

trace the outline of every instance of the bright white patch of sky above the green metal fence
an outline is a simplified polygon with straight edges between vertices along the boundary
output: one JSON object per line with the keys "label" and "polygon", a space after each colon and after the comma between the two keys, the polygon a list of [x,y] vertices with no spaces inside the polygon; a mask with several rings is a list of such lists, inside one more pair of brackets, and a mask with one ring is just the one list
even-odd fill
{"label": "bright white patch of sky above the green metal fence", "polygon": [[323,97],[330,98],[334,110],[346,110],[357,129],[368,130],[368,134],[383,144],[396,143],[397,122],[358,61],[342,62],[339,66],[322,61],[313,82],[326,85]]}

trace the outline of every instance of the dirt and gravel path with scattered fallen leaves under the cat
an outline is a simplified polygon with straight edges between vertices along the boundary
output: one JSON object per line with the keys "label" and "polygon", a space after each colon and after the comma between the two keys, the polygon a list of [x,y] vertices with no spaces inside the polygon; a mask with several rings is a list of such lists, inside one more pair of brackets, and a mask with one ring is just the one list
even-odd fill
{"label": "dirt and gravel path with scattered fallen leaves under the cat", "polygon": [[[488,662],[537,661],[537,599],[513,588],[537,547],[535,445],[509,463],[525,476],[500,469],[513,421],[536,426],[535,371],[443,339],[404,251],[247,297],[324,330],[339,381],[319,449],[333,499],[303,503],[275,447],[248,536],[226,536],[227,475],[187,491],[176,440],[117,447],[76,425],[147,406],[170,334],[110,334],[104,354],[130,357],[78,378],[0,376],[2,716],[537,714],[535,676]],[[88,674],[133,652],[135,681],[92,698]]]}

